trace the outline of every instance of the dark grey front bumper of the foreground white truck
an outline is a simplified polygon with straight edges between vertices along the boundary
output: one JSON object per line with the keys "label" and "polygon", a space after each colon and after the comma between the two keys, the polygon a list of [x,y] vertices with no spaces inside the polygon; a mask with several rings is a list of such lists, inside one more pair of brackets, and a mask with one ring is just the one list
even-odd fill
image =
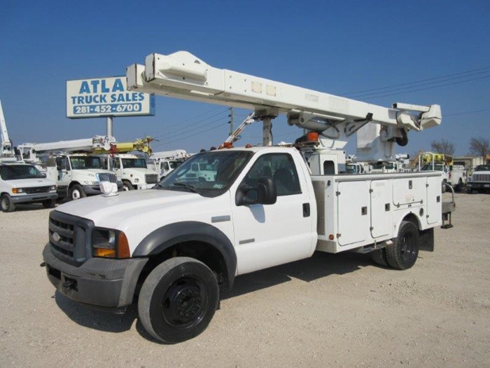
{"label": "dark grey front bumper of the foreground white truck", "polygon": [[132,304],[147,258],[91,258],[79,267],[57,259],[50,243],[43,250],[48,279],[58,292],[83,304],[120,308]]}

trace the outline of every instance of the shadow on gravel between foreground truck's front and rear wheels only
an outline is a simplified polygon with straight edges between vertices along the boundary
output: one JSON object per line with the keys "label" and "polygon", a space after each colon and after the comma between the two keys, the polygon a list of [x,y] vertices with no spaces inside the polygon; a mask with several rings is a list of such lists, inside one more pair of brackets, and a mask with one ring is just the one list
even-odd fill
{"label": "shadow on gravel between foreground truck's front and rear wheels only", "polygon": [[302,259],[301,261],[238,276],[235,278],[233,288],[228,292],[221,293],[221,299],[237,297],[238,295],[279,285],[290,281],[291,278],[310,282],[329,275],[351,273],[360,269],[360,267],[372,266],[372,264],[371,258],[365,254],[315,252],[313,257]]}

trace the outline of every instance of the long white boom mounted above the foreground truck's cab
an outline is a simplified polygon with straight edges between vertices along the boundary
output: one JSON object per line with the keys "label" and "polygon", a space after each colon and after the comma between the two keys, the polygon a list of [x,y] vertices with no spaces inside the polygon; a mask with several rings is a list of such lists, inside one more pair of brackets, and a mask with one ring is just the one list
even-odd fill
{"label": "long white boom mounted above the foreground truck's cab", "polygon": [[145,65],[127,67],[127,88],[184,100],[252,109],[264,122],[264,144],[271,144],[271,119],[286,114],[288,124],[321,132],[323,144],[342,148],[366,123],[384,125],[382,139],[406,143],[409,130],[423,130],[441,122],[440,106],[393,104],[392,108],[308,90],[285,83],[218,69],[179,51],[153,53]]}

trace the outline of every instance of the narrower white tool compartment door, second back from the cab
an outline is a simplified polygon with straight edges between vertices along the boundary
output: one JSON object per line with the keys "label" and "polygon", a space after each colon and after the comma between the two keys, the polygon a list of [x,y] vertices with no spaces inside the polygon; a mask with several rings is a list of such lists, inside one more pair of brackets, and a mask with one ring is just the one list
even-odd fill
{"label": "narrower white tool compartment door, second back from the cab", "polygon": [[379,238],[391,231],[391,181],[386,179],[372,180],[371,192],[371,236]]}

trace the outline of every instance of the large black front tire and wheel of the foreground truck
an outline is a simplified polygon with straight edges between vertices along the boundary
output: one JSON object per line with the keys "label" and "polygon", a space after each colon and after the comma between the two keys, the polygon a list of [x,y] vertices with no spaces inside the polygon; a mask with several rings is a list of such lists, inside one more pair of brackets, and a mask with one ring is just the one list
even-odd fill
{"label": "large black front tire and wheel of the foreground truck", "polygon": [[206,329],[218,306],[216,276],[205,264],[175,257],[146,278],[138,299],[146,331],[165,343],[192,339]]}

